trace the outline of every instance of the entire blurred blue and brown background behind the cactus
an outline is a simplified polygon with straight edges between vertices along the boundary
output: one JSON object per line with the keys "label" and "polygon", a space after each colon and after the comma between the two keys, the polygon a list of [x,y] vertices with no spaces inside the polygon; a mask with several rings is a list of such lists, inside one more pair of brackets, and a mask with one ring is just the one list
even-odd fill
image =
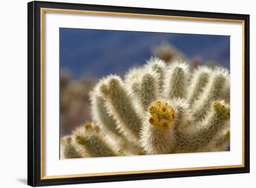
{"label": "entire blurred blue and brown background behind the cactus", "polygon": [[229,69],[229,36],[60,29],[60,137],[90,121],[89,91],[103,76],[123,76],[151,56]]}

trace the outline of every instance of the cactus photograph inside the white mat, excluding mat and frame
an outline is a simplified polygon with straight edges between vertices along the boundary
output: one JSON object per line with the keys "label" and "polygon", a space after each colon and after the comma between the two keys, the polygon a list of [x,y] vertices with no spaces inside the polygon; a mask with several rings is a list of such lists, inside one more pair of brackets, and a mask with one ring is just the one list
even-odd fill
{"label": "cactus photograph inside the white mat, excluding mat and frame", "polygon": [[230,151],[230,36],[59,38],[60,159]]}

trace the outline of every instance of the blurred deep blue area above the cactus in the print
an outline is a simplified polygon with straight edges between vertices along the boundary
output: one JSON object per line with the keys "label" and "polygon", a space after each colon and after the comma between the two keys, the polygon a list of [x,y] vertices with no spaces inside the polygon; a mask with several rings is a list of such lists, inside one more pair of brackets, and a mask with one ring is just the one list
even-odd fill
{"label": "blurred deep blue area above the cactus in the print", "polygon": [[60,66],[74,78],[123,75],[133,64],[144,64],[162,42],[188,58],[201,56],[229,69],[229,36],[69,28],[60,28]]}

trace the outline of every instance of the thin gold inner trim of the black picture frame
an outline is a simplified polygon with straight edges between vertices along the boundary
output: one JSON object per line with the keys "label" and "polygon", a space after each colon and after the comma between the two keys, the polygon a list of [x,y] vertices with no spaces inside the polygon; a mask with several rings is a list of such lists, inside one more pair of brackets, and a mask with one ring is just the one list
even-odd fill
{"label": "thin gold inner trim of the black picture frame", "polygon": [[[109,15],[109,16],[123,16],[123,17],[140,17],[140,18],[158,18],[158,19],[183,19],[183,20],[196,20],[196,21],[213,21],[213,22],[231,22],[242,23],[243,28],[243,162],[238,165],[226,166],[212,166],[212,167],[195,167],[195,168],[180,168],[180,169],[154,169],[154,170],[139,170],[139,171],[124,171],[124,172],[102,172],[102,173],[89,173],[89,174],[74,174],[74,175],[44,175],[44,13],[75,13],[75,14],[90,14],[90,15]],[[185,170],[204,170],[204,169],[229,169],[229,168],[243,168],[244,167],[244,21],[234,19],[211,19],[211,18],[196,18],[196,17],[182,17],[182,16],[164,16],[164,15],[150,15],[150,14],[135,14],[135,13],[112,13],[112,12],[96,12],[96,11],[76,11],[64,9],[50,9],[41,8],[41,180],[45,179],[58,179],[58,178],[74,178],[74,177],[88,177],[88,176],[101,176],[101,175],[129,175],[129,174],[145,174],[145,173],[158,173],[158,172],[175,172]]]}

